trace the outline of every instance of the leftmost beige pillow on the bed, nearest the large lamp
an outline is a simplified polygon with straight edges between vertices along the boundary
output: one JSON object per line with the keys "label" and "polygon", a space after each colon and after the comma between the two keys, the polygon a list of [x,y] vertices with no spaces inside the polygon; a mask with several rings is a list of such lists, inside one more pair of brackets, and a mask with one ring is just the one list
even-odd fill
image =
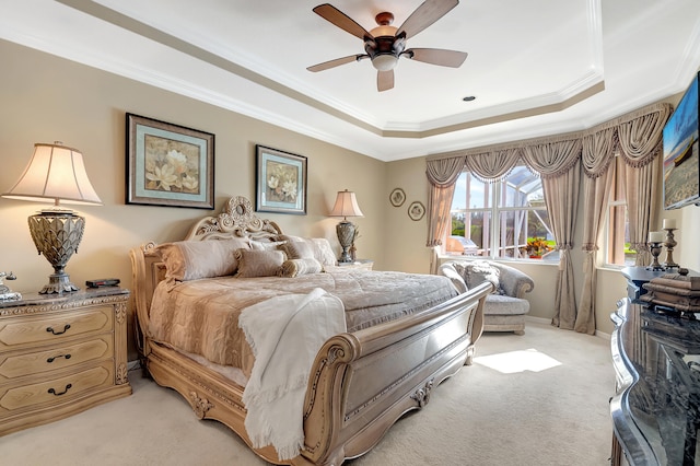
{"label": "leftmost beige pillow on the bed, nearest the large lamp", "polygon": [[178,241],[155,248],[167,269],[166,280],[188,281],[233,275],[238,268],[237,249],[250,249],[246,238]]}

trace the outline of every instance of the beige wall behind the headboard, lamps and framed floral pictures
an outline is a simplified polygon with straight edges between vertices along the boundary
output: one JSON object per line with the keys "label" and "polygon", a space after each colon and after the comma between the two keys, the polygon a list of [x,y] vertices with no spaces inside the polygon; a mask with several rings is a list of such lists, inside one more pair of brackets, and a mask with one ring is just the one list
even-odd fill
{"label": "beige wall behind the headboard, lamps and framed floral pictures", "polygon": [[[364,218],[357,219],[358,254],[387,268],[383,233],[388,195],[385,163],[238,114],[0,40],[0,191],[18,180],[35,142],[62,141],[81,150],[104,206],[80,207],[86,221],[79,252],[68,264],[71,280],[117,277],[131,288],[128,251],[147,241],[182,238],[200,209],[125,205],[127,112],[215,135],[215,209],[231,196],[255,198],[255,144],[308,159],[307,215],[262,214],[291,234],[325,236],[339,251],[326,217],[336,193],[357,191]],[[14,271],[15,291],[39,290],[52,269],[38,256],[26,218],[45,207],[0,198],[0,271]],[[133,358],[133,353],[130,354]]]}

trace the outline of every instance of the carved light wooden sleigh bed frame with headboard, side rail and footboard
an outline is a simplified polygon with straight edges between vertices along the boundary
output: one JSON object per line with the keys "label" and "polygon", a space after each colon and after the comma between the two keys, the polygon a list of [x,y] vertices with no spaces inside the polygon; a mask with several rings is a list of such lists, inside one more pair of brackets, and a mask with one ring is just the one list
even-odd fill
{"label": "carved light wooden sleigh bed frame with headboard, side rail and footboard", "polygon": [[[279,232],[252,212],[249,201],[232,198],[222,214],[198,222],[187,238]],[[250,445],[241,400],[244,387],[149,339],[150,300],[164,277],[153,246],[130,253],[142,363],[156,383],[183,395],[200,419],[223,422]],[[491,291],[492,286],[483,283],[427,311],[329,338],[308,380],[301,454],[280,462],[271,446],[255,452],[268,462],[292,465],[340,465],[366,453],[399,417],[425,406],[438,384],[471,362],[483,327],[483,301]]]}

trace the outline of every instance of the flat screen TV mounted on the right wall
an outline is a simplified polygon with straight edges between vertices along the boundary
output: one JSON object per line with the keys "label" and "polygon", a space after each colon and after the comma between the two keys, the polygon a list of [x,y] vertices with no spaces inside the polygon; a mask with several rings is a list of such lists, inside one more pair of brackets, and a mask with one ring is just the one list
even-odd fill
{"label": "flat screen TV mounted on the right wall", "polygon": [[680,98],[664,126],[664,209],[700,203],[700,159],[698,156],[698,80]]}

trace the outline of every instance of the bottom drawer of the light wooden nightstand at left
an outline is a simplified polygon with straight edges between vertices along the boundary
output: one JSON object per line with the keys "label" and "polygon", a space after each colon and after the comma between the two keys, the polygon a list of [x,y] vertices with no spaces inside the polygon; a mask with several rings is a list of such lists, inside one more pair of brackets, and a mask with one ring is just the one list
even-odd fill
{"label": "bottom drawer of the light wooden nightstand at left", "polygon": [[98,366],[61,377],[42,380],[22,386],[2,387],[0,388],[0,408],[4,411],[14,411],[51,406],[112,385],[114,385],[114,362],[109,360]]}

